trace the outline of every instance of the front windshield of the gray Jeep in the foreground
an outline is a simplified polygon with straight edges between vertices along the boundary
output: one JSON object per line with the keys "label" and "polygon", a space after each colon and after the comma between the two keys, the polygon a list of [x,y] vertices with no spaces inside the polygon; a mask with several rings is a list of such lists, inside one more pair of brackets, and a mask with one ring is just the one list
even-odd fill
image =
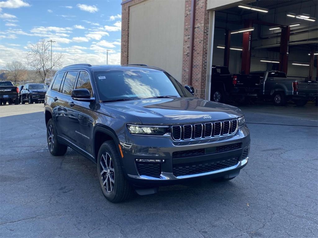
{"label": "front windshield of the gray Jeep in the foreground", "polygon": [[162,71],[109,71],[94,76],[101,101],[192,97],[181,83]]}

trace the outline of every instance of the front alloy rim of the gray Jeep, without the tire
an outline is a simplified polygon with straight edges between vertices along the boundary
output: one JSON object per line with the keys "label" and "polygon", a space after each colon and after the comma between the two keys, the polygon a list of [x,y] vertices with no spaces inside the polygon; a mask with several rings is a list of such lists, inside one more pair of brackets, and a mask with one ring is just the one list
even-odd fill
{"label": "front alloy rim of the gray Jeep, without the tire", "polygon": [[111,193],[114,189],[115,183],[115,171],[113,161],[110,155],[105,152],[100,158],[100,176],[103,185],[108,193]]}

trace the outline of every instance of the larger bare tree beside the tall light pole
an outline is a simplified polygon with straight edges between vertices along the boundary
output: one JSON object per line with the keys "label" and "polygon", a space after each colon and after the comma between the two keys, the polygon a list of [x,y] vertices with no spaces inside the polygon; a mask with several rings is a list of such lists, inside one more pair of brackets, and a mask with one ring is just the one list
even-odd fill
{"label": "larger bare tree beside the tall light pole", "polygon": [[51,68],[51,44],[45,38],[41,38],[37,43],[31,44],[31,50],[27,53],[28,65],[34,68],[41,77],[41,83],[45,83],[46,75],[56,68],[62,66],[62,52],[52,54]]}

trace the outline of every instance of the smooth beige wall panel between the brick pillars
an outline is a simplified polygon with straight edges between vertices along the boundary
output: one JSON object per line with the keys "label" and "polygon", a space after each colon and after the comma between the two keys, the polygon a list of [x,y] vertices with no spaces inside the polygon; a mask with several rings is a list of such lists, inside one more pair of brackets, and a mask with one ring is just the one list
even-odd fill
{"label": "smooth beige wall panel between the brick pillars", "polygon": [[184,1],[146,0],[130,7],[129,63],[166,70],[181,82]]}

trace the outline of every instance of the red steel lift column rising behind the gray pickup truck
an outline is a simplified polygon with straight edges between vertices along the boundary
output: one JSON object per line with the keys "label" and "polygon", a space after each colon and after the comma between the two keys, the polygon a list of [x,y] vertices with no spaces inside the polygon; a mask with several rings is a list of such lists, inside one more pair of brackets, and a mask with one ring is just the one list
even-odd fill
{"label": "red steel lift column rising behind the gray pickup truck", "polygon": [[279,70],[287,74],[290,27],[283,27],[280,34]]}

